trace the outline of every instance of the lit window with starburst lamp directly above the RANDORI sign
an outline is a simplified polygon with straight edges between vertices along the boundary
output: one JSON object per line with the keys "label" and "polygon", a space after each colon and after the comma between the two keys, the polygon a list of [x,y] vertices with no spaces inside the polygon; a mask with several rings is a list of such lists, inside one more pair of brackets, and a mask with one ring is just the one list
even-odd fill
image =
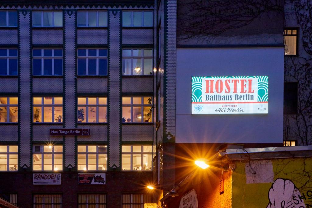
{"label": "lit window with starburst lamp directly above the RANDORI sign", "polygon": [[32,164],[34,171],[63,170],[63,146],[34,145]]}

